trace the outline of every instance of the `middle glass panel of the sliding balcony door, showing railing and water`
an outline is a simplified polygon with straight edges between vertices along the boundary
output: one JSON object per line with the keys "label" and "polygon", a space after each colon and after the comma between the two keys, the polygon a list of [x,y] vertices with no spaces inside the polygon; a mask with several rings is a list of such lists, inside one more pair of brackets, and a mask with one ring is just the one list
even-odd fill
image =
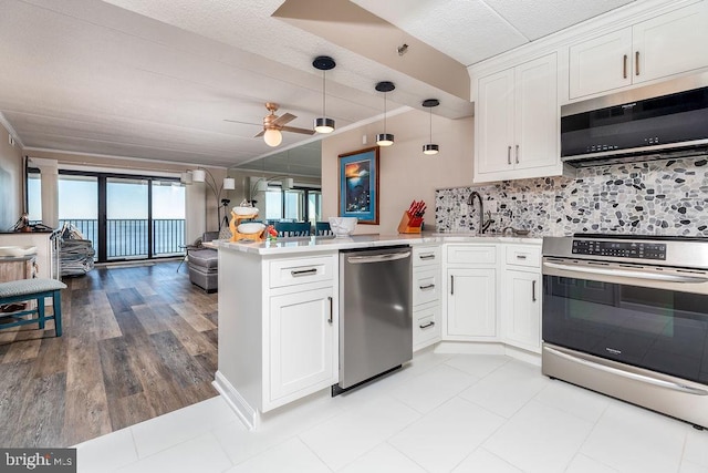
{"label": "middle glass panel of the sliding balcony door, showing railing and water", "polygon": [[149,181],[106,178],[106,259],[148,258]]}

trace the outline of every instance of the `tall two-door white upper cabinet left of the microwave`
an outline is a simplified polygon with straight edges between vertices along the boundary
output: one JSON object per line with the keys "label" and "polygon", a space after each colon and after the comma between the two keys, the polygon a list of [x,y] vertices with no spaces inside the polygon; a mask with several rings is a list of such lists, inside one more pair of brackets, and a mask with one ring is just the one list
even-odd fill
{"label": "tall two-door white upper cabinet left of the microwave", "polygon": [[555,53],[479,79],[475,182],[562,174]]}

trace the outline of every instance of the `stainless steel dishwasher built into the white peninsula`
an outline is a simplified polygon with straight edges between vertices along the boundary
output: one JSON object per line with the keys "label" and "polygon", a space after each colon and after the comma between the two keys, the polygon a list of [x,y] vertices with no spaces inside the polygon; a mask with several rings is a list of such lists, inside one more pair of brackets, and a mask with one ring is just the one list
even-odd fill
{"label": "stainless steel dishwasher built into the white peninsula", "polygon": [[337,395],[413,358],[409,246],[340,251]]}

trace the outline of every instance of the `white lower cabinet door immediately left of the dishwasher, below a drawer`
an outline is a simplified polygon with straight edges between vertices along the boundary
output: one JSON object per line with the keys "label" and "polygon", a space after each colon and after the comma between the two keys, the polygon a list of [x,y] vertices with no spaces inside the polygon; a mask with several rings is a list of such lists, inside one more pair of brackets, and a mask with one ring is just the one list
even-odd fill
{"label": "white lower cabinet door immediately left of the dishwasher, below a drawer", "polygon": [[337,382],[334,309],[332,288],[271,297],[271,401]]}

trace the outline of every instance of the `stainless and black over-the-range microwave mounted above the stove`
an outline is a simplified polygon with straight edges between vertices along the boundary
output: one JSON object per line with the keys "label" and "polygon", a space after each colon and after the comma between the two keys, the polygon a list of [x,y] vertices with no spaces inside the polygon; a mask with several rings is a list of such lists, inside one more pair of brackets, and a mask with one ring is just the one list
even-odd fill
{"label": "stainless and black over-the-range microwave mounted above the stove", "polygon": [[561,107],[575,167],[708,154],[708,72]]}

